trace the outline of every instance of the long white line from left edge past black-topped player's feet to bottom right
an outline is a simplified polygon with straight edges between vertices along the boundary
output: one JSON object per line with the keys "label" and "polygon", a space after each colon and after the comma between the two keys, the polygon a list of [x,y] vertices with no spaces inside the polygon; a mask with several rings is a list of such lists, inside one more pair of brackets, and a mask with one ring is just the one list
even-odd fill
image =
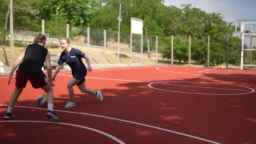
{"label": "long white line from left edge past black-topped player's feet to bottom right", "polygon": [[[0,105],[0,106],[8,106],[8,105]],[[28,109],[38,109],[38,110],[47,110],[47,109],[42,109],[42,108],[38,108],[38,107],[30,107],[30,106],[15,106],[15,107],[22,107],[22,108],[28,108]],[[113,119],[113,120],[115,120],[115,121],[121,121],[121,122],[126,122],[126,123],[132,123],[132,124],[142,125],[142,126],[144,126],[144,127],[149,127],[149,128],[153,128],[153,129],[158,129],[158,130],[162,130],[162,131],[167,131],[167,132],[169,132],[169,133],[174,133],[174,134],[178,134],[178,135],[183,135],[183,136],[191,137],[191,138],[193,138],[193,139],[197,139],[197,140],[201,140],[201,141],[206,141],[206,142],[210,142],[210,143],[220,144],[220,143],[218,143],[218,142],[211,141],[211,140],[207,140],[207,139],[203,139],[203,138],[201,138],[201,137],[197,137],[197,136],[193,136],[193,135],[188,135],[188,134],[184,134],[184,133],[179,133],[179,132],[177,132],[177,131],[168,130],[168,129],[164,129],[164,128],[154,127],[154,126],[148,125],[148,124],[137,123],[137,122],[132,122],[132,121],[126,121],[126,120],[124,120],[124,119],[118,119],[118,118],[106,117],[106,116],[100,116],[100,115],[93,115],[93,114],[82,113],[82,112],[71,112],[71,111],[62,111],[62,110],[54,110],[54,111],[66,112],[66,113],[75,113],[75,114],[79,114],[79,115],[87,115],[87,116],[94,116],[94,117],[101,117],[101,118]]]}

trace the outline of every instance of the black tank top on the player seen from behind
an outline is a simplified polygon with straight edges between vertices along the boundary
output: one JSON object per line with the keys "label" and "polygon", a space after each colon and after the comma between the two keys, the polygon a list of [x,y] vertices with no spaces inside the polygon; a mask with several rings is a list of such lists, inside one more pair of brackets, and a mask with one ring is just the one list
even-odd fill
{"label": "black tank top on the player seen from behind", "polygon": [[23,61],[19,65],[19,70],[27,75],[45,77],[42,67],[47,53],[48,50],[42,45],[28,45]]}

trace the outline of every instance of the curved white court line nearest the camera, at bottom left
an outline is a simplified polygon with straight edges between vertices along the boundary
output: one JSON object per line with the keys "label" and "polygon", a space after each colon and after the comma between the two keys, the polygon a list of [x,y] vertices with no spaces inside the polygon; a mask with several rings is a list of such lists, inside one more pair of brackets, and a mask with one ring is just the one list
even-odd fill
{"label": "curved white court line nearest the camera, at bottom left", "polygon": [[53,124],[69,125],[69,126],[73,126],[73,127],[78,127],[78,128],[83,128],[83,129],[88,129],[88,130],[91,130],[91,131],[95,131],[96,133],[100,133],[102,135],[105,135],[105,136],[109,137],[110,139],[113,139],[114,141],[116,141],[118,143],[125,144],[123,141],[119,140],[117,137],[115,137],[113,135],[110,135],[108,133],[105,133],[105,132],[97,130],[97,129],[84,127],[83,125],[77,125],[77,124],[71,124],[71,123],[55,123],[55,122],[47,122],[47,121],[0,121],[0,123],[4,123],[4,122],[53,123]]}

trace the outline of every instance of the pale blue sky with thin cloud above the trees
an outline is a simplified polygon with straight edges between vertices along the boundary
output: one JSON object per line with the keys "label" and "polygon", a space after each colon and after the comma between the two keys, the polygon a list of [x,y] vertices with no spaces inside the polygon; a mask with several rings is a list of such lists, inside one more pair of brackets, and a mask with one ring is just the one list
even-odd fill
{"label": "pale blue sky with thin cloud above the trees", "polygon": [[181,8],[182,4],[192,4],[206,13],[220,13],[223,20],[256,19],[256,0],[164,0],[166,6]]}

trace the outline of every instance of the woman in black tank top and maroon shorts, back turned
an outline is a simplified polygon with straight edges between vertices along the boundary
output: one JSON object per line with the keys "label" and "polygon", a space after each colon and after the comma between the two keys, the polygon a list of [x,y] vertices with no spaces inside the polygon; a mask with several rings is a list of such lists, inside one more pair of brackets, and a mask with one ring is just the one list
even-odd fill
{"label": "woman in black tank top and maroon shorts, back turned", "polygon": [[[19,57],[13,64],[11,68],[8,85],[10,84],[11,78],[16,68],[19,66],[19,69],[16,70],[16,87],[13,94],[11,94],[8,110],[5,113],[5,119],[14,118],[13,108],[16,101],[19,98],[19,95],[23,91],[23,88],[26,87],[27,81],[30,81],[34,88],[42,88],[46,94],[48,112],[46,116],[50,117],[54,122],[59,122],[59,117],[53,112],[54,104],[54,92],[53,92],[53,83],[51,80],[51,63],[50,63],[50,53],[44,47],[46,37],[44,34],[37,33],[34,37],[33,44],[28,45],[24,50],[21,51]],[[42,71],[42,67],[46,65],[48,79]]]}

